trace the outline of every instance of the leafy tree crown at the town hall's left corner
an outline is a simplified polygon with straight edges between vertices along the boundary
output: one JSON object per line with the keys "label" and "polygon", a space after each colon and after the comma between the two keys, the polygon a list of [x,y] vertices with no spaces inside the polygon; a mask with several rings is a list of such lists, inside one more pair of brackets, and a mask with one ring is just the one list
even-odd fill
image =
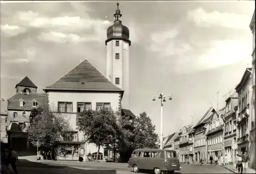
{"label": "leafy tree crown at the town hall's left corner", "polygon": [[46,107],[31,110],[28,138],[34,146],[52,147],[67,131],[71,131],[69,121],[59,113]]}

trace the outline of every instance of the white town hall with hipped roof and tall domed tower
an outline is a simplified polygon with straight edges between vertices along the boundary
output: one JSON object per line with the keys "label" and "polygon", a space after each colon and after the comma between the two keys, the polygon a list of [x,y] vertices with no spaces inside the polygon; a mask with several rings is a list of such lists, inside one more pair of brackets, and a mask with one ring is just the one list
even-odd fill
{"label": "white town hall with hipped roof and tall domed tower", "polygon": [[[114,24],[107,30],[106,74],[97,69],[88,59],[84,59],[72,70],[64,74],[50,86],[44,88],[47,105],[51,110],[61,113],[69,120],[73,132],[69,138],[57,143],[57,159],[78,160],[61,151],[71,148],[79,151],[84,159],[96,160],[97,147],[84,140],[82,132],[76,130],[77,115],[83,110],[112,108],[121,111],[122,115],[134,118],[130,111],[129,99],[129,29],[123,26],[118,8],[114,14]],[[72,153],[72,151],[70,151]],[[110,153],[100,148],[98,160],[110,159]]]}

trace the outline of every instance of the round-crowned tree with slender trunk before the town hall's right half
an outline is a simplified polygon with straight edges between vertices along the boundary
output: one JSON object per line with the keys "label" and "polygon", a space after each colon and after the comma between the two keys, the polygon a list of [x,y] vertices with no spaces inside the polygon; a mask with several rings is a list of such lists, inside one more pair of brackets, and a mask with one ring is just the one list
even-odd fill
{"label": "round-crowned tree with slender trunk before the town hall's right half", "polygon": [[94,143],[98,147],[96,160],[100,147],[113,143],[117,134],[116,123],[117,117],[112,109],[84,110],[78,114],[77,129],[83,132],[89,143]]}

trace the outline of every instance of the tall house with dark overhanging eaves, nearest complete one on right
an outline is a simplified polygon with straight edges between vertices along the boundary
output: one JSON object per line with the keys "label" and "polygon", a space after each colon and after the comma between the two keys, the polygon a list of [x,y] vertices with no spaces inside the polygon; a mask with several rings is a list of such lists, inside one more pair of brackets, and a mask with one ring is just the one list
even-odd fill
{"label": "tall house with dark overhanging eaves, nearest complete one on right", "polygon": [[246,68],[240,83],[237,85],[238,93],[238,113],[237,113],[237,144],[238,151],[249,150],[249,130],[250,130],[250,85],[251,68]]}

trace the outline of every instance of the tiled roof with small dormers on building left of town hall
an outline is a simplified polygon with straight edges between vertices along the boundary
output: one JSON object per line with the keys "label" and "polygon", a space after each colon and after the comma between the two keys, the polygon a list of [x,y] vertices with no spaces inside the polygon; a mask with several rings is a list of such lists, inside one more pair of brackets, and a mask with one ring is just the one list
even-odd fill
{"label": "tiled roof with small dormers on building left of town hall", "polygon": [[[23,106],[19,106],[19,100],[22,98],[24,101]],[[8,110],[30,110],[33,108],[33,100],[37,101],[38,105],[46,105],[45,93],[20,93],[17,92],[8,100]]]}

